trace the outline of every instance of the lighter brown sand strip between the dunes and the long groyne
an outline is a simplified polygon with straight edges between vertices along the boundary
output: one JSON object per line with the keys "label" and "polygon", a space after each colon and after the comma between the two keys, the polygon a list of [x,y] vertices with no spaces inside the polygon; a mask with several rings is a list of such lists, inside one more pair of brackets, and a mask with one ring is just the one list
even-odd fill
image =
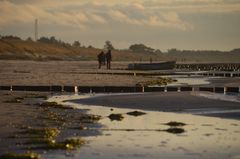
{"label": "lighter brown sand strip between the dunes and the long groyne", "polygon": [[[136,86],[139,82],[156,80],[151,73],[171,74],[176,70],[126,70],[127,62],[112,62],[112,69],[97,69],[97,61],[1,61],[0,84],[4,85],[67,85],[67,86]],[[149,75],[137,75],[144,73]],[[180,71],[182,73],[182,71]],[[187,71],[188,75],[189,71]],[[196,77],[187,76],[195,79]],[[202,78],[202,77],[197,77]],[[239,78],[209,78],[210,86],[238,87]],[[174,83],[173,83],[174,84]]]}

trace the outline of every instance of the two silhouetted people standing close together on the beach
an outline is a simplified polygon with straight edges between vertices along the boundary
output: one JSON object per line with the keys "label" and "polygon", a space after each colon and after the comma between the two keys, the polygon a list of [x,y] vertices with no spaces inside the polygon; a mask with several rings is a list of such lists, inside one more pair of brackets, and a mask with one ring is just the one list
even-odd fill
{"label": "two silhouetted people standing close together on the beach", "polygon": [[98,68],[100,69],[102,65],[105,65],[107,61],[107,69],[111,69],[112,54],[111,50],[108,50],[106,54],[101,51],[98,54]]}

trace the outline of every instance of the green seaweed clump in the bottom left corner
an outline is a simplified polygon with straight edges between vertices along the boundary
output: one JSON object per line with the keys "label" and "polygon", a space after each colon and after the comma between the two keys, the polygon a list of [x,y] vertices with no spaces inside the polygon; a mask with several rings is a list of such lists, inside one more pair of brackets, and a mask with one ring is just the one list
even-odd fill
{"label": "green seaweed clump in the bottom left corner", "polygon": [[41,159],[41,156],[35,152],[26,152],[23,154],[7,153],[0,156],[1,159]]}

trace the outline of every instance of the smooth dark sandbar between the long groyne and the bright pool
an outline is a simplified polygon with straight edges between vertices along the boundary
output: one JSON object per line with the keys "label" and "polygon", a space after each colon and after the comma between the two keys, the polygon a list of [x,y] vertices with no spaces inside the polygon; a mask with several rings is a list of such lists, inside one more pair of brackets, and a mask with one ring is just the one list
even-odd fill
{"label": "smooth dark sandbar between the long groyne and the bright pool", "polygon": [[73,102],[107,107],[132,108],[166,112],[188,112],[223,118],[240,119],[240,103],[208,99],[199,92],[161,92],[96,96]]}

